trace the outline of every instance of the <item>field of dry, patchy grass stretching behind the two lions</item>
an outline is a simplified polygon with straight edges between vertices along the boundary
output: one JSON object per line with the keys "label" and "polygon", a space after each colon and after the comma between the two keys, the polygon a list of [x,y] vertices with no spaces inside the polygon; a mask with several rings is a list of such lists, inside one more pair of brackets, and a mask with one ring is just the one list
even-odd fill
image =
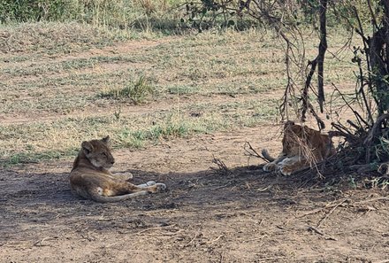
{"label": "field of dry, patchy grass stretching behind the two lions", "polygon": [[[136,148],[278,119],[286,73],[283,44],[271,32],[123,42],[122,35],[74,23],[2,30],[5,164],[72,155],[80,141],[102,135],[111,135],[115,147]],[[336,37],[332,52],[341,48],[342,36]],[[309,42],[307,56],[315,52]],[[327,84],[352,81],[350,56],[339,60],[330,53]],[[153,89],[146,104],[99,97],[102,90],[123,89],[142,76]]]}

